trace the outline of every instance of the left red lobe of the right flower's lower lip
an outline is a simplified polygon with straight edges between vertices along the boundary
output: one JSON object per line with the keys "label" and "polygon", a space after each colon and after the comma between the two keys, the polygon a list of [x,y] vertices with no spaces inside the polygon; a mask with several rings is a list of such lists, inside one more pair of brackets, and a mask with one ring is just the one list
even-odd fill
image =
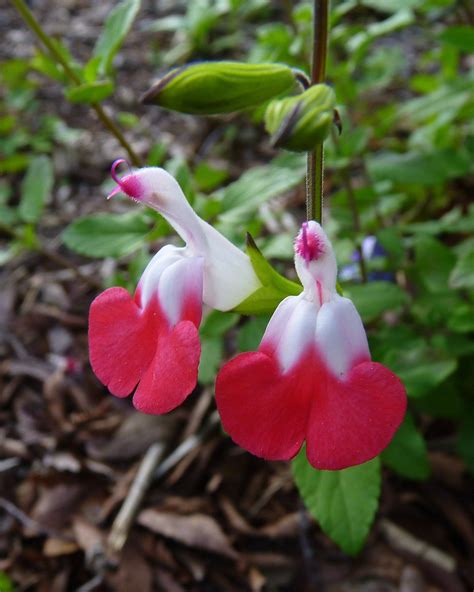
{"label": "left red lobe of the right flower's lower lip", "polygon": [[309,413],[308,388],[301,384],[305,380],[294,371],[281,376],[275,360],[262,352],[237,356],[216,381],[224,429],[256,456],[292,458],[303,443]]}

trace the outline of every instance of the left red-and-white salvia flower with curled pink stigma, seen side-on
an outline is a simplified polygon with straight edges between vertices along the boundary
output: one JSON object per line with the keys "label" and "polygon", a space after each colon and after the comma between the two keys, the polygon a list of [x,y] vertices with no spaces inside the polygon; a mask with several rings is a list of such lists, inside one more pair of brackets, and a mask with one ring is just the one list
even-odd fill
{"label": "left red-and-white salvia flower with curled pink stigma, seen side-on", "polygon": [[260,283],[247,255],[197,216],[177,181],[161,168],[142,168],[119,178],[122,192],[159,211],[186,243],[166,245],[146,267],[133,297],[109,288],[91,304],[92,368],[109,391],[134,406],[166,413],[196,385],[200,359],[198,327],[203,304],[234,308]]}

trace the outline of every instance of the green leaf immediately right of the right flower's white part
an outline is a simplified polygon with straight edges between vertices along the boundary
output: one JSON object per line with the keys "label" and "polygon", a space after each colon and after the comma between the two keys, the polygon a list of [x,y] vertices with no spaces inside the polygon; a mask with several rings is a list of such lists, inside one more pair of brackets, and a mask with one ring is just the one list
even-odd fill
{"label": "green leaf immediately right of the right flower's white part", "polygon": [[408,296],[400,286],[390,282],[370,282],[368,284],[344,286],[344,293],[350,298],[362,320],[373,321],[387,310],[397,310],[408,301]]}

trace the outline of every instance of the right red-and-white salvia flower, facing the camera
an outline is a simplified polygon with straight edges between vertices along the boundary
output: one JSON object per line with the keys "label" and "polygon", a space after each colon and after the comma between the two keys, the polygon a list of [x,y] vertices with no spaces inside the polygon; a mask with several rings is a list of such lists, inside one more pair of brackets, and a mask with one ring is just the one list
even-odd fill
{"label": "right red-and-white salvia flower, facing the camera", "polygon": [[406,408],[401,381],[371,361],[353,303],[336,291],[334,251],[321,226],[303,224],[295,241],[303,284],[273,314],[257,352],[220,371],[224,429],[249,452],[288,460],[306,441],[309,462],[336,470],[377,456]]}

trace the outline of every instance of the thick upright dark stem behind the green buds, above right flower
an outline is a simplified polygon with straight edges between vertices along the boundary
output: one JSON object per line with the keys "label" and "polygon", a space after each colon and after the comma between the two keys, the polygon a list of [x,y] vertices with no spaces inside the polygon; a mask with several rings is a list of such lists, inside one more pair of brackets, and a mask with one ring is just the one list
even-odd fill
{"label": "thick upright dark stem behind the green buds, above right flower", "polygon": [[[329,0],[314,0],[313,57],[311,82],[324,82],[329,32]],[[320,144],[308,154],[306,173],[306,215],[308,220],[323,219],[324,149]]]}

